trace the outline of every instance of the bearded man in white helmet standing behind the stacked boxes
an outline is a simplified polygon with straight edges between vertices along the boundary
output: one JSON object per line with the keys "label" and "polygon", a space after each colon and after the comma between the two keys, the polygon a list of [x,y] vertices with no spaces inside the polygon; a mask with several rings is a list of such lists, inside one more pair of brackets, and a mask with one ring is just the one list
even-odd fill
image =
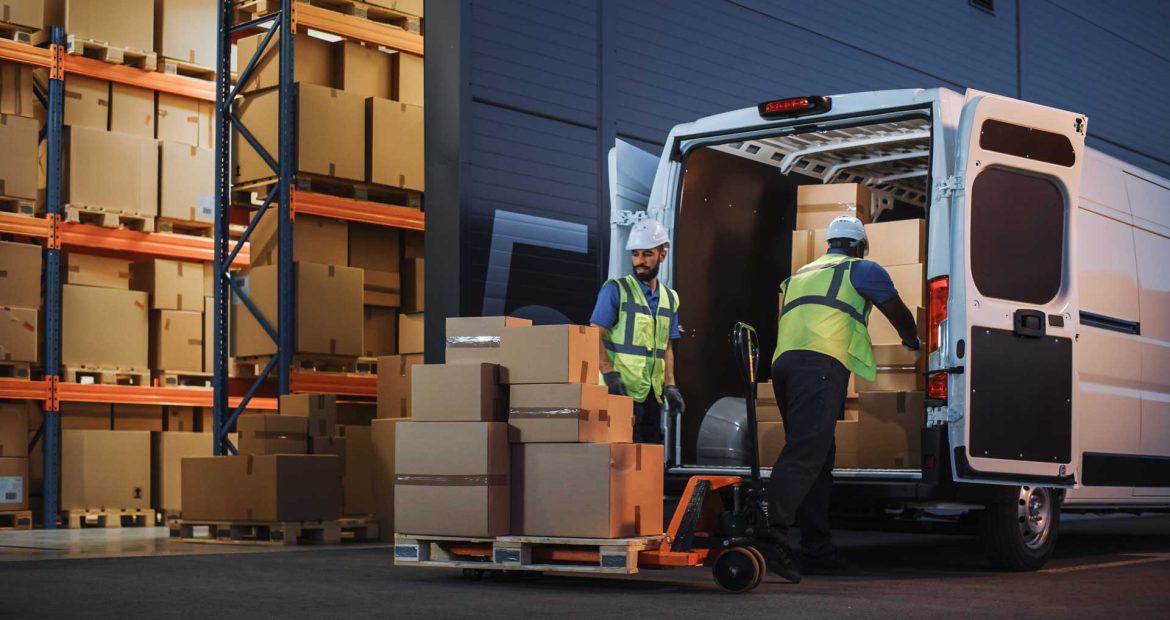
{"label": "bearded man in white helmet standing behind the stacked boxes", "polygon": [[610,280],[597,296],[590,323],[601,330],[601,376],[611,394],[634,399],[634,442],[662,443],[662,402],[687,408],[674,384],[679,294],[658,281],[670,237],[655,220],[629,232],[626,249],[634,274]]}

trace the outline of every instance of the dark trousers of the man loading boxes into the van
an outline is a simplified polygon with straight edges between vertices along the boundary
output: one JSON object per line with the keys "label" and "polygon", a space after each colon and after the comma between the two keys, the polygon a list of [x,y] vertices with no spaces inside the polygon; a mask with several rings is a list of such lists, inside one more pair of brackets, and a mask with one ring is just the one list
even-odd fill
{"label": "dark trousers of the man loading boxes into the van", "polygon": [[845,411],[848,385],[848,368],[824,353],[787,351],[772,364],[785,436],[768,482],[772,525],[786,532],[789,525],[798,523],[800,547],[812,554],[832,549],[833,430]]}

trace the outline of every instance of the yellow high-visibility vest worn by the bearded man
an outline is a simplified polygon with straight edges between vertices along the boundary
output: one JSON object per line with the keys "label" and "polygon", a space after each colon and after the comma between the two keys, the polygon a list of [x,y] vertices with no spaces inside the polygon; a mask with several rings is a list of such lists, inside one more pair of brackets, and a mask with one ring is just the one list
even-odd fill
{"label": "yellow high-visibility vest worn by the bearded man", "polygon": [[606,354],[629,397],[640,402],[653,390],[661,404],[666,347],[670,343],[670,322],[679,311],[679,295],[660,283],[658,312],[651,314],[638,278],[626,276],[610,282],[617,284],[620,301],[618,322],[604,339]]}

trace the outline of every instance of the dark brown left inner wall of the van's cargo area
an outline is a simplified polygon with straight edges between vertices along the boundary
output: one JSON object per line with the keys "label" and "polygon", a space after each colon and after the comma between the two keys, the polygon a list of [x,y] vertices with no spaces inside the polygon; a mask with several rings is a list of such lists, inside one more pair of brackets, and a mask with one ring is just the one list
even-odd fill
{"label": "dark brown left inner wall of the van's cargo area", "polygon": [[742,397],[731,328],[756,328],[760,380],[776,346],[777,295],[792,262],[797,185],[769,165],[698,149],[687,157],[675,229],[674,284],[682,338],[675,378],[690,413],[682,428],[684,462],[694,462],[702,414],[722,397]]}

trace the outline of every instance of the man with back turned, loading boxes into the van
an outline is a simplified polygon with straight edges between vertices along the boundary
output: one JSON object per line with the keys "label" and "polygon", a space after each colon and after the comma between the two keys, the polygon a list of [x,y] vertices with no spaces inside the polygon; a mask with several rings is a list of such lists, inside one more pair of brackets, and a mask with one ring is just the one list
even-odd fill
{"label": "man with back turned, loading boxes into the van", "polygon": [[[914,315],[889,274],[865,260],[869,240],[861,221],[837,218],[825,233],[828,254],[801,267],[780,284],[780,317],[772,386],[784,418],[785,445],[768,483],[769,519],[780,556],[777,571],[798,581],[794,556],[785,546],[789,524],[800,522],[800,567],[839,574],[847,565],[828,531],[833,484],[833,430],[845,409],[849,373],[874,378],[868,321],[878,306],[902,338],[921,349]],[[785,562],[787,560],[787,562]],[[771,563],[770,563],[771,565]]]}

